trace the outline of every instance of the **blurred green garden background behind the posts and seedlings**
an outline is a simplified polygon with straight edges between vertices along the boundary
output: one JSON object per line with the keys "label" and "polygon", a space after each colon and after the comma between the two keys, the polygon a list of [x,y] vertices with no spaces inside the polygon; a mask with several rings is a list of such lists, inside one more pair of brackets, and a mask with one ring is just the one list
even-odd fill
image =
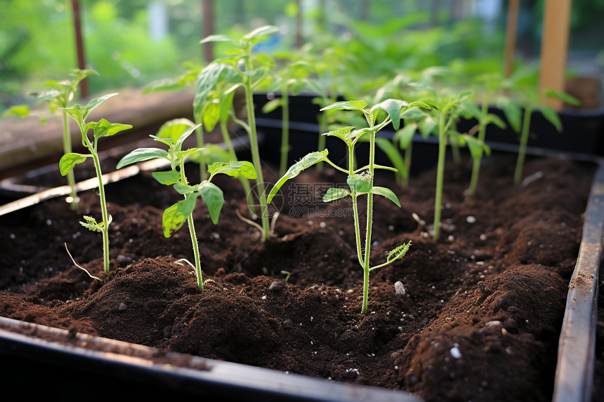
{"label": "blurred green garden background behind the posts and seedlings", "polygon": [[[280,27],[265,46],[293,46],[296,13],[303,40],[339,43],[377,70],[423,68],[452,60],[501,65],[504,0],[216,0],[214,32]],[[521,1],[518,60],[539,57],[544,0]],[[298,5],[299,4],[299,9]],[[49,79],[77,67],[72,1],[0,0],[0,112]],[[141,87],[201,65],[202,0],[80,0],[86,62],[100,76],[91,93]],[[570,69],[602,74],[604,0],[574,0]],[[404,39],[404,40],[403,40]],[[220,48],[215,49],[215,54]],[[598,61],[598,54],[600,55]]]}

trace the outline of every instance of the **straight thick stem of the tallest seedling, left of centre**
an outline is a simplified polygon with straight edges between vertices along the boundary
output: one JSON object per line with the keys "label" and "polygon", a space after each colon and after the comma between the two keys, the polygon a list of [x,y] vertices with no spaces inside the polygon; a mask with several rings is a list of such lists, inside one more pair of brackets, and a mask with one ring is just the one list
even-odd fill
{"label": "straight thick stem of the tallest seedling, left of centre", "polygon": [[[251,71],[251,60],[246,60],[246,70]],[[266,205],[266,194],[262,165],[260,163],[260,151],[258,150],[258,136],[256,135],[256,114],[254,114],[254,99],[251,94],[251,76],[244,78],[245,102],[247,106],[247,121],[249,125],[249,142],[251,145],[251,160],[256,169],[256,185],[258,186],[258,199],[260,200],[260,218],[262,221],[263,237],[266,241],[270,238],[270,224],[268,222],[268,206]]]}

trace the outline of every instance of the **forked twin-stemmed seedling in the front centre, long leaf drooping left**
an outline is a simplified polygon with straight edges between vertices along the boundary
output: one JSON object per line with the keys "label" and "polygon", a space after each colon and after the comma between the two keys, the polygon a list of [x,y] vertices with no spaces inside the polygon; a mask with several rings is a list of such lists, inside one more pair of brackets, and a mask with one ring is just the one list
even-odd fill
{"label": "forked twin-stemmed seedling in the front centre, long leaf drooping left", "polygon": [[[323,149],[322,151],[312,152],[295,163],[293,166],[287,170],[287,173],[279,181],[277,184],[271,189],[270,194],[268,194],[268,201],[270,202],[273,199],[273,196],[277,194],[279,189],[284,185],[284,183],[296,177],[300,174],[304,169],[313,166],[315,163],[319,163],[320,161],[324,161],[329,163],[329,165],[333,166],[337,170],[342,171],[348,175],[348,179],[346,183],[348,184],[348,189],[346,188],[336,188],[331,187],[327,190],[327,193],[323,196],[324,202],[336,201],[338,199],[343,199],[344,197],[350,196],[353,201],[353,210],[354,210],[354,220],[355,220],[355,239],[356,239],[356,250],[357,250],[357,259],[359,264],[361,265],[364,272],[364,281],[363,281],[363,302],[362,302],[362,314],[367,314],[367,298],[369,293],[369,272],[374,271],[375,269],[379,269],[381,267],[385,267],[388,264],[392,264],[396,260],[405,256],[407,250],[409,250],[409,246],[411,246],[411,242],[402,244],[398,246],[394,250],[388,253],[386,257],[386,262],[382,264],[376,265],[374,267],[371,266],[369,261],[369,256],[372,248],[372,225],[373,225],[373,200],[374,195],[380,195],[386,197],[397,206],[400,207],[400,202],[398,201],[397,196],[392,192],[392,190],[387,189],[386,187],[378,187],[374,186],[374,175],[376,169],[386,169],[386,170],[395,170],[395,168],[391,168],[389,166],[380,166],[375,163],[375,148],[376,148],[376,133],[381,130],[381,128],[387,126],[389,123],[392,123],[395,128],[400,126],[400,115],[403,110],[406,109],[415,109],[416,107],[425,107],[429,108],[423,102],[413,102],[407,103],[404,100],[395,100],[388,99],[385,100],[371,109],[367,109],[367,102],[359,101],[359,100],[351,100],[348,102],[335,102],[327,107],[324,107],[324,110],[334,109],[334,110],[353,110],[357,112],[361,112],[367,121],[368,127],[366,128],[355,128],[355,127],[344,127],[339,128],[337,130],[329,131],[324,135],[334,136],[342,140],[346,147],[348,147],[348,169],[341,168],[337,166],[335,163],[329,160],[327,157],[329,151],[327,149]],[[383,115],[383,112],[386,112],[386,116],[381,119],[380,123],[376,123],[376,119],[379,116]],[[369,164],[367,166],[362,166],[361,168],[355,168],[355,145],[357,142],[364,137],[369,137]],[[361,231],[360,231],[360,213],[358,208],[358,197],[367,196],[367,220],[365,227],[365,246],[363,246],[361,239]]]}

